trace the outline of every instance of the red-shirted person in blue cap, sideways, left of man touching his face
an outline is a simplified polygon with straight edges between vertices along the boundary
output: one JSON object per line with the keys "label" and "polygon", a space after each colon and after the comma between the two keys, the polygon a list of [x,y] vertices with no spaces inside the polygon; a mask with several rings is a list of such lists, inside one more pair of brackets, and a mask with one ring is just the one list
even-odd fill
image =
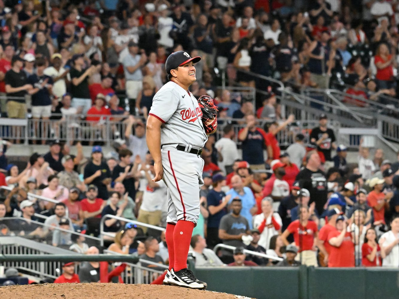
{"label": "red-shirted person in blue cap, sideways, left of man touching his face", "polygon": [[[326,224],[322,228],[320,228],[317,240],[317,247],[320,250],[320,256],[322,258],[322,266],[327,267],[328,264],[328,256],[331,253],[332,245],[328,243],[328,235],[330,232],[337,230],[335,228],[335,224],[337,222],[337,218],[339,215],[342,215],[342,212],[337,208],[329,210],[326,216]],[[321,262],[321,261],[320,261]]]}

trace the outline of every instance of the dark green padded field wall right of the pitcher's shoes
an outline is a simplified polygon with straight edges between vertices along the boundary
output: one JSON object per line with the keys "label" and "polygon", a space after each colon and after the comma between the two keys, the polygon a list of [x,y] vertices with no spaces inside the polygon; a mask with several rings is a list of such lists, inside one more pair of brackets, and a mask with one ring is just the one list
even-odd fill
{"label": "dark green padded field wall right of the pitcher's shoes", "polygon": [[399,298],[399,269],[226,267],[195,273],[209,291],[257,299]]}

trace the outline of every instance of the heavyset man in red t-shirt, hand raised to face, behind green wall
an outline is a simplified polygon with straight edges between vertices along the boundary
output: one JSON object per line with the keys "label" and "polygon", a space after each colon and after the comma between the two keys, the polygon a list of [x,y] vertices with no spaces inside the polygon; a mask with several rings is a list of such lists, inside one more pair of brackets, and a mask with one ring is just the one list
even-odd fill
{"label": "heavyset man in red t-shirt, hand raised to face, behind green wall", "polygon": [[328,234],[328,243],[332,246],[328,267],[354,267],[355,245],[352,234],[346,231],[344,216],[338,216],[335,228],[335,231]]}

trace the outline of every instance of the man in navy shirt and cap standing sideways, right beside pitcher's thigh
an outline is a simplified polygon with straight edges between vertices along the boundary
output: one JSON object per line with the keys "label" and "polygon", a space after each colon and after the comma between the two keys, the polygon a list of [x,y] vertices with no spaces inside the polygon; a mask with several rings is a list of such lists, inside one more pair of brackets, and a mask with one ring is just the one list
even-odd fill
{"label": "man in navy shirt and cap standing sideways, right beside pitcher's thigh", "polygon": [[[205,181],[205,179],[204,179]],[[226,180],[222,175],[215,175],[212,178],[212,189],[207,194],[207,208],[209,216],[207,220],[207,243],[210,248],[221,243],[218,236],[220,220],[227,214],[227,203],[231,195],[226,196],[222,187],[226,185]]]}

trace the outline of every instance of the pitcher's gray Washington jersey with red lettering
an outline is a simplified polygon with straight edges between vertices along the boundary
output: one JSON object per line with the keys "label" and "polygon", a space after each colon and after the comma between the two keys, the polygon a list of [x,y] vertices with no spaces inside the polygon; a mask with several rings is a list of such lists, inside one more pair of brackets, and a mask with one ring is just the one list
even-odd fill
{"label": "pitcher's gray Washington jersey with red lettering", "polygon": [[155,94],[148,115],[162,122],[161,145],[190,144],[203,147],[208,137],[202,126],[197,99],[173,81]]}

